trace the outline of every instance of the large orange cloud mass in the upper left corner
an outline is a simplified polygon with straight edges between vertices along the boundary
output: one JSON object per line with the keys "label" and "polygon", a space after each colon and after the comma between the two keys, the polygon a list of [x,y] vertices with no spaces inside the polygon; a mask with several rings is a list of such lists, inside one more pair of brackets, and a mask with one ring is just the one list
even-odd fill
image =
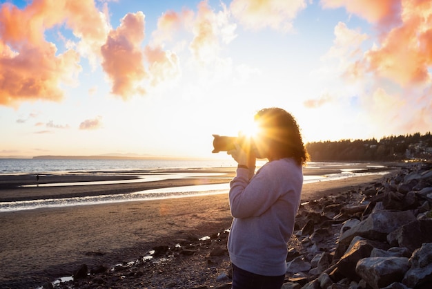
{"label": "large orange cloud mass in the upper left corner", "polygon": [[[59,53],[45,34],[61,24],[79,42],[68,41]],[[62,100],[60,85],[77,83],[79,53],[90,58],[100,54],[108,24],[92,0],[35,0],[23,9],[3,3],[0,27],[0,104],[18,106],[29,100]]]}

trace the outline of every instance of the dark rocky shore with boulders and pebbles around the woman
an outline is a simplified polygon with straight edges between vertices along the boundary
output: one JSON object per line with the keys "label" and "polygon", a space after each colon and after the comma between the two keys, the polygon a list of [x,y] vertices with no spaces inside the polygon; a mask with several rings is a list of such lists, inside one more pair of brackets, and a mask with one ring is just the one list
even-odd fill
{"label": "dark rocky shore with boulders and pebbles around the woman", "polygon": [[[431,205],[431,163],[302,204],[283,288],[432,288]],[[182,235],[133,261],[84,264],[72,280],[41,286],[230,288],[227,236],[228,228]]]}

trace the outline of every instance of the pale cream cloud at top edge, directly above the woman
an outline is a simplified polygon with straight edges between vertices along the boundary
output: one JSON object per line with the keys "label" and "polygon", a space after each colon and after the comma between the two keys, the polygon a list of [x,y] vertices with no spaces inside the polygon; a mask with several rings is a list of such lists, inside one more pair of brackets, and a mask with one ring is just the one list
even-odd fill
{"label": "pale cream cloud at top edge, directly above the woman", "polygon": [[306,8],[306,0],[233,0],[230,11],[246,28],[272,28],[288,32],[298,12]]}

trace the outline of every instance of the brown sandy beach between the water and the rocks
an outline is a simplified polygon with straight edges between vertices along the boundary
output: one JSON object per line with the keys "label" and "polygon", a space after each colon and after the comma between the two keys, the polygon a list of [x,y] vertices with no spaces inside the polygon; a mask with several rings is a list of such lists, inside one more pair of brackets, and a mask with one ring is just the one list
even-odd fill
{"label": "brown sandy beach between the water and the rocks", "polygon": [[[14,185],[35,183],[30,176],[28,180],[22,176],[20,180],[2,176],[0,202],[227,183],[234,174],[232,168],[208,169],[208,172],[215,171],[223,175],[126,185],[26,188]],[[313,174],[313,171],[308,173]],[[91,177],[57,176],[52,181],[83,181],[86,178]],[[357,189],[359,185],[372,184],[380,178],[380,175],[369,175],[306,184],[302,200],[311,201],[346,189]],[[43,181],[51,180],[46,178]],[[175,244],[181,239],[200,238],[228,229],[231,220],[228,194],[2,212],[0,288],[14,283],[17,286],[21,283],[41,284],[70,276],[83,263],[114,265],[128,261],[146,254],[160,243]]]}

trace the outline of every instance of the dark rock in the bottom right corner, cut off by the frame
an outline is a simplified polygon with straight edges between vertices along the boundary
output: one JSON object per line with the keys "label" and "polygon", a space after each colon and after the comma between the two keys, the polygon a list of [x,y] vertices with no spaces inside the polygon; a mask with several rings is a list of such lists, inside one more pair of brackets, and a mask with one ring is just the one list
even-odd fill
{"label": "dark rock in the bottom right corner, cut off by the frame", "polygon": [[432,288],[432,243],[424,243],[409,259],[409,268],[402,283],[410,288],[429,283]]}

